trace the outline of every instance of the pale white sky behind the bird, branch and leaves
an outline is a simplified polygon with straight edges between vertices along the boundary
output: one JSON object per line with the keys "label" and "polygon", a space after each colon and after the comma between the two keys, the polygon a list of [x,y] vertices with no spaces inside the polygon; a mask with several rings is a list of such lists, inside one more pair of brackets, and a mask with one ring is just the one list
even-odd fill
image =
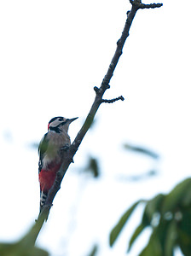
{"label": "pale white sky behind the bird, branch and leaves", "polygon": [[[38,239],[51,256],[88,255],[96,242],[99,256],[126,255],[140,211],[110,249],[109,232],[122,213],[190,174],[191,2],[163,3],[136,14],[105,95],[125,101],[101,106],[56,195]],[[39,142],[57,115],[79,117],[70,129],[75,137],[129,9],[124,0],[0,2],[0,241],[19,239],[38,216],[38,154],[30,143]],[[154,163],[124,152],[122,143],[159,153],[159,175],[123,181]],[[77,174],[87,154],[101,159],[99,180]],[[136,256],[146,241],[142,236],[129,255]]]}

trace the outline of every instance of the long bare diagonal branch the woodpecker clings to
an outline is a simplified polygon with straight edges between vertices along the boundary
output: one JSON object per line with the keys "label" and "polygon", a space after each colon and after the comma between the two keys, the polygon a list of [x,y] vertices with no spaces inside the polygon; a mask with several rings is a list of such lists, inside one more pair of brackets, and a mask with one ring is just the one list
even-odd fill
{"label": "long bare diagonal branch the woodpecker clings to", "polygon": [[97,112],[98,108],[100,107],[101,103],[102,102],[113,103],[113,102],[117,102],[119,100],[124,101],[123,96],[119,96],[112,100],[104,100],[104,99],[102,99],[102,96],[104,95],[105,91],[110,88],[109,82],[113,77],[113,72],[115,70],[115,67],[118,64],[119,57],[120,57],[120,55],[122,55],[124,43],[126,41],[126,38],[129,36],[130,26],[132,24],[132,21],[133,21],[135,15],[136,15],[136,11],[138,9],[156,8],[156,7],[160,7],[162,5],[161,3],[153,3],[153,4],[148,4],[148,5],[142,4],[141,0],[134,0],[134,1],[130,0],[130,3],[132,4],[132,7],[131,7],[130,11],[127,12],[127,19],[124,24],[124,30],[122,32],[121,38],[119,38],[119,41],[117,42],[117,48],[113,55],[113,59],[108,67],[107,73],[106,73],[104,79],[102,80],[100,88],[98,88],[96,86],[94,87],[94,90],[96,91],[96,97],[95,97],[95,100],[90,108],[90,112],[88,113],[87,118],[84,121],[84,125],[82,126],[80,131],[78,131],[78,134],[77,134],[76,138],[74,139],[72,145],[67,150],[67,152],[65,152],[66,157],[64,158],[64,161],[61,165],[59,172],[57,172],[57,174],[56,174],[55,183],[53,184],[52,188],[49,189],[49,194],[47,195],[45,205],[43,206],[43,209],[38,216],[38,220],[37,220],[36,224],[32,227],[32,237],[33,237],[34,241],[36,241],[36,239],[38,237],[38,233],[43,225],[44,220],[47,219],[49,216],[49,210],[50,210],[50,207],[52,207],[52,202],[55,198],[56,193],[61,188],[61,181],[62,181],[65,173],[67,172],[68,167],[73,162],[73,156],[78,151],[78,147],[82,143],[82,140],[83,140],[86,132],[89,130],[90,125],[92,124],[93,119],[94,119],[96,112]]}

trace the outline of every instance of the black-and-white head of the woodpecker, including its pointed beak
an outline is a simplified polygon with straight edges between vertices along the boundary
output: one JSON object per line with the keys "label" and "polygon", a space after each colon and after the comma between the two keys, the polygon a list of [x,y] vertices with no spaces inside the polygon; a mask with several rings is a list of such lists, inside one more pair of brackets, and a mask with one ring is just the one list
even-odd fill
{"label": "black-and-white head of the woodpecker, including its pointed beak", "polygon": [[48,125],[48,131],[55,131],[57,133],[61,133],[63,131],[68,131],[69,125],[74,121],[75,119],[66,119],[62,116],[57,116],[49,121]]}

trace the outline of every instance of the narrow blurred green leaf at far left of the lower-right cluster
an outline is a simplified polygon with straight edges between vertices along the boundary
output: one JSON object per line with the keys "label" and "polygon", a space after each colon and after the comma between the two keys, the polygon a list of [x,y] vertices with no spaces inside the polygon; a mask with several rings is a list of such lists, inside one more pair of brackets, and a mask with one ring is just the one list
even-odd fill
{"label": "narrow blurred green leaf at far left of the lower-right cluster", "polygon": [[111,247],[113,246],[114,241],[116,241],[116,239],[118,238],[121,230],[124,228],[124,224],[126,224],[127,220],[130,218],[130,214],[135,210],[136,206],[140,202],[142,202],[142,200],[136,201],[136,203],[133,204],[132,207],[130,207],[130,209],[124,212],[124,215],[119,219],[119,223],[116,224],[113,230],[111,231],[109,237],[109,244]]}

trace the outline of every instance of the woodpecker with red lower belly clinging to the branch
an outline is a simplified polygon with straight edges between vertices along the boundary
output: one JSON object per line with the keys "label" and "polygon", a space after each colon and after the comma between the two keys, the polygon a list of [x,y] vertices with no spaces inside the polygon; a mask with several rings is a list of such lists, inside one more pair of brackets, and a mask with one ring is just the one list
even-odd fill
{"label": "woodpecker with red lower belly clinging to the branch", "polygon": [[55,182],[64,158],[64,151],[71,145],[67,134],[68,127],[75,119],[65,119],[61,116],[49,121],[48,132],[43,136],[38,147],[38,178],[40,183],[40,212],[45,204],[49,189]]}

